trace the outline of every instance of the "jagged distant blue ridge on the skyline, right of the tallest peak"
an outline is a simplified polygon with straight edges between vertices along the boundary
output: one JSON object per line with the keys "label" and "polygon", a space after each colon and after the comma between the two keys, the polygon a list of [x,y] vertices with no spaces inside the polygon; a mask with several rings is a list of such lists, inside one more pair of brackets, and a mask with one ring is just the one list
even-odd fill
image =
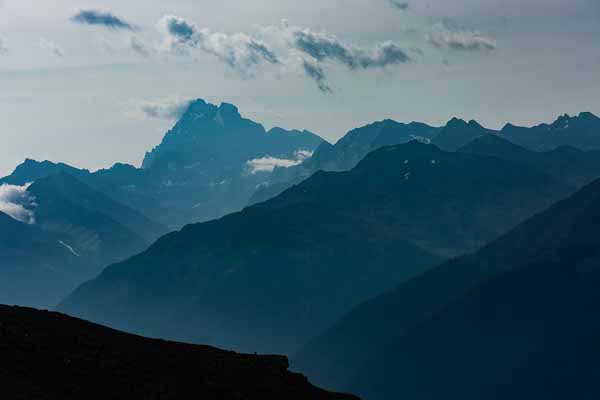
{"label": "jagged distant blue ridge on the skyline, right of the tallest peak", "polygon": [[299,166],[275,169],[271,179],[252,196],[250,204],[272,198],[319,170],[347,171],[368,153],[383,146],[420,140],[431,142],[442,150],[456,151],[483,136],[507,139],[533,151],[550,151],[565,146],[600,150],[600,118],[591,113],[581,113],[576,117],[564,115],[549,125],[524,128],[507,124],[500,131],[484,128],[473,120],[466,122],[458,118],[453,118],[441,128],[417,122],[376,122],[348,132],[335,145],[322,144],[312,158]]}

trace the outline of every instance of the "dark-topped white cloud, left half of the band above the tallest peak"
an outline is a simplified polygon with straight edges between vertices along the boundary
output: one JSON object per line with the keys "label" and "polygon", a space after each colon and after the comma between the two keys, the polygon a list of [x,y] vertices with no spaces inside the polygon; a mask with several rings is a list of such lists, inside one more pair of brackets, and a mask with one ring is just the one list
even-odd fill
{"label": "dark-topped white cloud, left half of the band above the tallest peak", "polygon": [[166,37],[166,44],[175,50],[199,49],[211,54],[242,74],[251,74],[250,68],[261,63],[278,64],[280,61],[263,41],[244,33],[225,34],[199,29],[194,23],[174,15],[165,15],[158,29]]}

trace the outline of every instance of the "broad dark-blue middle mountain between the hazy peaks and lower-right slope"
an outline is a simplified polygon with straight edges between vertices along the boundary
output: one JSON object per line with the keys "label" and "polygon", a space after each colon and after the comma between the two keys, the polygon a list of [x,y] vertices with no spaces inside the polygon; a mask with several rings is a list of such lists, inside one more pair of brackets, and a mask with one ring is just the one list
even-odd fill
{"label": "broad dark-blue middle mountain between the hazy peaks and lower-right slope", "polygon": [[169,234],[60,310],[150,336],[290,353],[352,306],[562,198],[551,176],[413,141]]}

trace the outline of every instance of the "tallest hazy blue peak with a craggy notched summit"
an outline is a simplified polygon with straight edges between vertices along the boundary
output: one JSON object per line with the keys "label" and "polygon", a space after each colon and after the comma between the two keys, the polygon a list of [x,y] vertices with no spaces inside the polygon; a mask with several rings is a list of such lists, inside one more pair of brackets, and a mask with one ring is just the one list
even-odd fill
{"label": "tallest hazy blue peak with a craggy notched summit", "polygon": [[187,221],[179,225],[221,217],[242,209],[270,179],[270,170],[253,168],[253,162],[300,161],[299,152],[312,153],[320,143],[307,131],[266,132],[233,105],[198,100],[146,155],[138,190],[182,210]]}

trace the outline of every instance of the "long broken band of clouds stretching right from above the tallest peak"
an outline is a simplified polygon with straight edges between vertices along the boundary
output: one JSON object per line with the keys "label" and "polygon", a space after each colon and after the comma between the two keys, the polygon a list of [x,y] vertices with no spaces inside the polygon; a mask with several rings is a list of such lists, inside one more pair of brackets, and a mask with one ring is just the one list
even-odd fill
{"label": "long broken band of clouds stretching right from above the tallest peak", "polygon": [[330,66],[341,65],[357,71],[413,61],[407,51],[392,41],[361,47],[345,43],[325,31],[290,26],[285,20],[280,26],[261,27],[256,36],[201,29],[175,15],[163,16],[157,28],[164,37],[163,48],[170,51],[189,55],[199,50],[211,54],[243,76],[252,76],[254,68],[260,65],[292,67],[312,79],[323,93],[333,91],[328,83]]}

